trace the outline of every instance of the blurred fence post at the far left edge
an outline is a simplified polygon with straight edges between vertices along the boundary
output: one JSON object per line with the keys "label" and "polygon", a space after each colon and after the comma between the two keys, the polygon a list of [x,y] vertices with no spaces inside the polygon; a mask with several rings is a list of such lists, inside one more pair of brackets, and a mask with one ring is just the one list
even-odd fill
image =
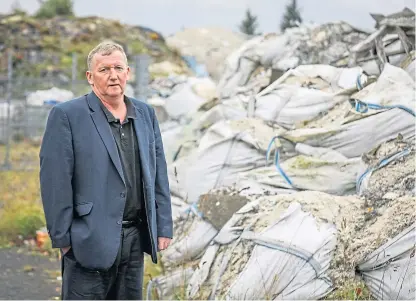
{"label": "blurred fence post at the far left edge", "polygon": [[11,104],[12,104],[12,88],[13,88],[13,52],[11,49],[8,50],[7,56],[7,121],[6,121],[6,150],[2,169],[10,170],[10,143],[11,143]]}

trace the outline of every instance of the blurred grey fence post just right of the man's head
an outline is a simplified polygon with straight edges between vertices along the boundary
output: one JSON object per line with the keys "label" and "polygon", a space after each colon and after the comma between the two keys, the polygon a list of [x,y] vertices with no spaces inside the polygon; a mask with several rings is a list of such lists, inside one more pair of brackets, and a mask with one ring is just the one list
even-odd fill
{"label": "blurred grey fence post just right of the man's head", "polygon": [[134,70],[135,70],[135,87],[134,97],[143,102],[147,102],[149,96],[149,65],[150,56],[147,54],[140,54],[134,57]]}

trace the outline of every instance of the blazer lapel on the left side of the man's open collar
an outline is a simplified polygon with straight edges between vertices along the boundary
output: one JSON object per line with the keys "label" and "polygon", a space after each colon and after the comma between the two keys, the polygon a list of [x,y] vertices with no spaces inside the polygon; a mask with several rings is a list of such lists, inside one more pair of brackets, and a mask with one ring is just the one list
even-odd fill
{"label": "blazer lapel on the left side of the man's open collar", "polygon": [[100,100],[94,92],[91,92],[87,96],[87,100],[88,105],[92,110],[91,118],[94,121],[95,127],[97,128],[97,131],[104,142],[104,145],[108,151],[108,154],[110,155],[111,160],[113,161],[114,166],[116,167],[121,179],[123,180],[123,183],[125,184],[123,168],[121,166],[117,145],[111,132],[110,125],[108,124],[107,118],[100,107]]}

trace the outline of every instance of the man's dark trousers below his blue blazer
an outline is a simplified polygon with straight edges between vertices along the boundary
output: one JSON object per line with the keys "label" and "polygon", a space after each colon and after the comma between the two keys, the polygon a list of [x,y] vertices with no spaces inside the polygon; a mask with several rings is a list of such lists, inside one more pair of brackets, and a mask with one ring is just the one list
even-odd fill
{"label": "man's dark trousers below his blue blazer", "polygon": [[109,270],[80,266],[70,249],[62,258],[62,300],[141,300],[143,257],[136,226],[123,228],[120,249]]}

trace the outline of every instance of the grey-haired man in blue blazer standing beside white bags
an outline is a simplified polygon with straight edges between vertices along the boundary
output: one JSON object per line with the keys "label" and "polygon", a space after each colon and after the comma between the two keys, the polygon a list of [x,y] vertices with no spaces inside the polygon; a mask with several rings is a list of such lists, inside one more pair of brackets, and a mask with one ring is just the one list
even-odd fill
{"label": "grey-haired man in blue blazer standing beside white bags", "polygon": [[63,299],[141,299],[144,252],[172,238],[166,160],[154,109],[124,95],[123,48],[88,56],[92,92],[51,110],[40,185],[52,247],[62,252]]}

